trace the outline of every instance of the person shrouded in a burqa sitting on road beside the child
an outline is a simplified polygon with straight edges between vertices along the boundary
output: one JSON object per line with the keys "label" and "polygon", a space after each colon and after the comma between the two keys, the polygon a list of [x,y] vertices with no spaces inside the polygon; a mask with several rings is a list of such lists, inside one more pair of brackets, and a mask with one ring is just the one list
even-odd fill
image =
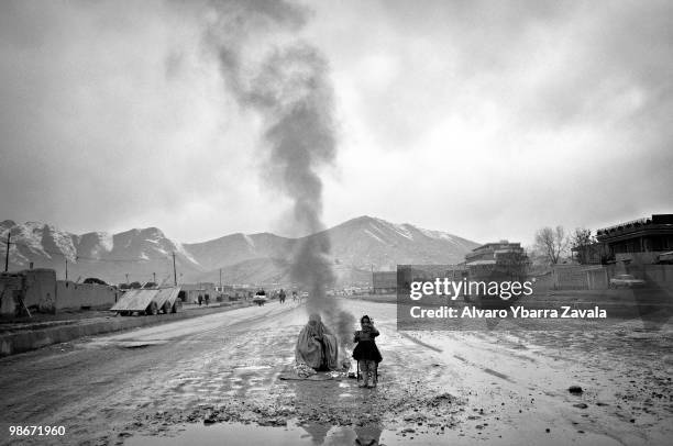
{"label": "person shrouded in a burqa sitting on road beside the child", "polygon": [[295,348],[298,364],[306,364],[318,371],[336,370],[339,368],[339,345],[334,336],[320,320],[319,314],[311,314]]}

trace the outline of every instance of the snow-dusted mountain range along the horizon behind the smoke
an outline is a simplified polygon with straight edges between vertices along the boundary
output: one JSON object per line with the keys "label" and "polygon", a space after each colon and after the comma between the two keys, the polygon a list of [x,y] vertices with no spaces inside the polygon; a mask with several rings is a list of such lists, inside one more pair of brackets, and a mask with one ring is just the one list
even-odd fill
{"label": "snow-dusted mountain range along the horizon behind the smoke", "polygon": [[[97,277],[110,283],[172,282],[173,261],[179,282],[290,283],[294,250],[302,238],[271,233],[231,234],[202,243],[183,244],[157,227],[118,234],[73,234],[37,222],[0,223],[0,239],[11,231],[10,271],[54,268],[70,280]],[[371,282],[372,270],[397,264],[455,264],[477,243],[441,231],[360,216],[308,237],[327,237],[329,260],[341,286]],[[2,246],[4,249],[4,245]],[[220,272],[221,271],[221,272]],[[156,275],[156,276],[155,276]]]}

